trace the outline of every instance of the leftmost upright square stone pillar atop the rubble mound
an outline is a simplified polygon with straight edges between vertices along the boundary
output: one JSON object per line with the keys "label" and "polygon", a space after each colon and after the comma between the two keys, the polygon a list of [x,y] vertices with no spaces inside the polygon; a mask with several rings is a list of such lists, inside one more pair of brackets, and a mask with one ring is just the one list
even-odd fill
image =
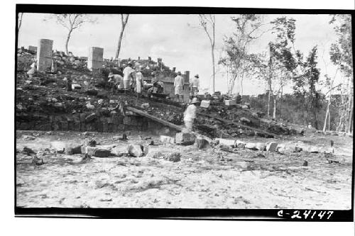
{"label": "leftmost upright square stone pillar atop the rubble mound", "polygon": [[52,65],[52,47],[53,40],[40,39],[37,49],[37,70],[39,72],[45,72],[46,69],[50,69]]}

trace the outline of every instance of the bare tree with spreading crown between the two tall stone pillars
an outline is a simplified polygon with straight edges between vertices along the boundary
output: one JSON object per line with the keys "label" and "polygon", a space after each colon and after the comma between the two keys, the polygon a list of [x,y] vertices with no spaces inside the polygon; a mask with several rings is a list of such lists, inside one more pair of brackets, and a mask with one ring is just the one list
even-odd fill
{"label": "bare tree with spreading crown between the two tall stone pillars", "polygon": [[[96,18],[92,18],[87,14],[55,14],[55,20],[60,26],[64,26],[68,30],[67,39],[65,40],[65,53],[67,55],[69,54],[67,47],[72,31],[80,28],[84,23],[95,23],[97,21]],[[44,21],[47,21],[47,19]]]}

